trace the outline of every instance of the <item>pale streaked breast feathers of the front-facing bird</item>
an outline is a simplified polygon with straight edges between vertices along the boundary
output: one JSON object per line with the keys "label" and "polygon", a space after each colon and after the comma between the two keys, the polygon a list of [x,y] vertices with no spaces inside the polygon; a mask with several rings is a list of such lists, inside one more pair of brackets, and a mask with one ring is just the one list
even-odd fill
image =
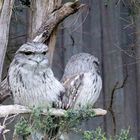
{"label": "pale streaked breast feathers of the front-facing bird", "polygon": [[25,106],[52,106],[58,103],[64,91],[51,69],[45,72],[25,71],[17,66],[9,70],[9,85],[15,104]]}

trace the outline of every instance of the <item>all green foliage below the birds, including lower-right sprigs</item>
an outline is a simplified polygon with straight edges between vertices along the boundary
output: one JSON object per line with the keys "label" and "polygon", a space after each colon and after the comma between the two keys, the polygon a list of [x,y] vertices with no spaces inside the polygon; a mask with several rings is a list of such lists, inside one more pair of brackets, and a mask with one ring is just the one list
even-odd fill
{"label": "all green foliage below the birds, including lower-right sprigs", "polygon": [[[49,110],[48,110],[49,112]],[[34,108],[29,118],[21,118],[16,124],[16,133],[20,136],[28,136],[33,130],[38,130],[50,138],[58,138],[58,129],[63,132],[74,131],[82,134],[82,140],[134,140],[130,137],[130,129],[124,130],[113,138],[107,138],[101,128],[92,131],[84,131],[78,126],[83,120],[95,116],[91,108],[80,110],[68,110],[64,117],[54,117],[50,113],[44,114],[41,108]]]}

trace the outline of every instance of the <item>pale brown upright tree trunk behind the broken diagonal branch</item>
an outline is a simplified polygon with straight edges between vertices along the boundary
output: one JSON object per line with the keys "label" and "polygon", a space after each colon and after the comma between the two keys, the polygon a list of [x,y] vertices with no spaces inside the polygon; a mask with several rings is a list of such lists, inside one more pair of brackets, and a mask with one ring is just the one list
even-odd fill
{"label": "pale brown upright tree trunk behind the broken diagonal branch", "polygon": [[[33,39],[33,35],[38,31],[41,27],[44,19],[47,20],[47,17],[55,10],[61,6],[62,0],[42,0],[42,1],[33,1],[32,8],[30,10],[29,16],[29,41]],[[52,65],[53,61],[53,53],[56,44],[56,32],[57,28],[55,28],[47,42],[49,46],[49,54],[50,54],[50,64]]]}

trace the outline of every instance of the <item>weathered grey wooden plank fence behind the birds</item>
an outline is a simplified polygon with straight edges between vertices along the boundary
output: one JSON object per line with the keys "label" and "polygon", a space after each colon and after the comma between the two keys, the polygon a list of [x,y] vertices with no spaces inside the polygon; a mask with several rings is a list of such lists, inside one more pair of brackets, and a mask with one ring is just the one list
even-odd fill
{"label": "weathered grey wooden plank fence behind the birds", "polygon": [[[137,0],[81,2],[87,6],[59,26],[53,60],[54,74],[61,79],[68,59],[76,53],[87,52],[98,57],[103,89],[95,106],[107,109],[108,114],[91,119],[82,127],[92,130],[100,126],[108,135],[130,127],[132,136],[139,140],[140,3]],[[3,78],[15,51],[27,41],[30,10],[31,7],[21,6],[16,0]],[[79,138],[72,136],[71,139]]]}

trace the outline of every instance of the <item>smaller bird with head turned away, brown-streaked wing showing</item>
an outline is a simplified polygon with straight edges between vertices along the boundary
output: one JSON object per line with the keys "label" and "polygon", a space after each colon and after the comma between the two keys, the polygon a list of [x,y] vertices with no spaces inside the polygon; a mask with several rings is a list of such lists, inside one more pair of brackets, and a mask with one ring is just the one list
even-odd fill
{"label": "smaller bird with head turned away, brown-streaked wing showing", "polygon": [[64,108],[93,106],[102,89],[98,59],[88,53],[72,56],[61,81],[66,89],[63,97]]}

